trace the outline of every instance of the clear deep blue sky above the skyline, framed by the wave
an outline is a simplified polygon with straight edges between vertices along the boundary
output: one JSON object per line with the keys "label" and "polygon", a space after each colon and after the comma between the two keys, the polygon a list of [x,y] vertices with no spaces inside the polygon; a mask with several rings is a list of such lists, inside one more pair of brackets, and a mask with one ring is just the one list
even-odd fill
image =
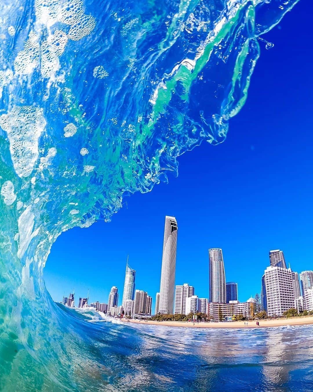
{"label": "clear deep blue sky above the skyline, framed by the wave", "polygon": [[176,284],[209,295],[208,249],[223,249],[227,281],[240,301],[261,290],[268,251],[282,249],[287,263],[313,269],[312,53],[309,0],[301,0],[279,27],[263,36],[248,100],[230,121],[226,141],[203,143],[179,159],[178,178],[148,194],[124,199],[112,222],[62,233],[45,267],[56,301],[75,288],[90,302],[122,299],[127,254],[136,288],[153,297],[160,288],[165,215],[176,216]]}

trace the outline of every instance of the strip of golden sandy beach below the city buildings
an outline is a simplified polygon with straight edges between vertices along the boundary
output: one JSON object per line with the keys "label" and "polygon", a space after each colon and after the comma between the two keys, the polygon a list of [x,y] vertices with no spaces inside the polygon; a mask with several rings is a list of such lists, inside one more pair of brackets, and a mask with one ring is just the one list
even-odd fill
{"label": "strip of golden sandy beach below the city buildings", "polygon": [[[122,322],[128,323],[128,319],[122,318]],[[185,327],[185,328],[269,328],[269,327],[283,327],[286,325],[308,325],[313,324],[313,316],[302,316],[302,317],[291,317],[284,319],[261,319],[258,320],[260,326],[256,325],[256,320],[248,321],[248,325],[245,325],[247,321],[228,321],[219,323],[192,323],[186,321],[152,321],[152,320],[137,320],[131,319],[130,323],[142,324],[142,325],[161,325],[164,327]]]}

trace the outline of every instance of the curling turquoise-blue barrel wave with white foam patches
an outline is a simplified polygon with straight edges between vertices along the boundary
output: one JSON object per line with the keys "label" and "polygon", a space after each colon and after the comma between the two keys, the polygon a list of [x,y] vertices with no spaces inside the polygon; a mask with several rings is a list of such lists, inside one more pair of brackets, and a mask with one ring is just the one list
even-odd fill
{"label": "curling turquoise-blue barrel wave with white foam patches", "polygon": [[[2,0],[0,389],[113,388],[87,321],[45,289],[50,248],[223,142],[258,37],[296,2]],[[121,365],[110,336],[101,347]]]}

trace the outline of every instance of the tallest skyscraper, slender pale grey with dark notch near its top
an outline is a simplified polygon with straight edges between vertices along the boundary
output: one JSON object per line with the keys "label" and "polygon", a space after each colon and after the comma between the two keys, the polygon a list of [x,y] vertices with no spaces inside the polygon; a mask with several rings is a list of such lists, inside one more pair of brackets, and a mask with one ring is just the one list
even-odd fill
{"label": "tallest skyscraper, slender pale grey with dark notch near its top", "polygon": [[174,216],[165,216],[159,313],[173,313],[176,245],[176,218]]}

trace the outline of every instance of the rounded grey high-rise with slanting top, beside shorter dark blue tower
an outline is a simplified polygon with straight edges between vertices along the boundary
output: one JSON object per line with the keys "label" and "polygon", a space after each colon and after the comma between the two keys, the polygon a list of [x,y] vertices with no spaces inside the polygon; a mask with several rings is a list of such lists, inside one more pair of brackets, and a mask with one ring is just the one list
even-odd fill
{"label": "rounded grey high-rise with slanting top, beside shorter dark blue tower", "polygon": [[209,249],[209,278],[209,302],[226,303],[223,253],[219,248]]}

